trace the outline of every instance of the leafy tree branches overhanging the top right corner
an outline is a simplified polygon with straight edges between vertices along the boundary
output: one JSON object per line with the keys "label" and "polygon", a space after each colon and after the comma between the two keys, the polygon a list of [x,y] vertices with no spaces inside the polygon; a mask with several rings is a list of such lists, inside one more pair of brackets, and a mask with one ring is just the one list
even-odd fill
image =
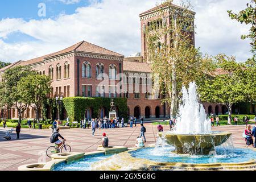
{"label": "leafy tree branches overhanging the top right corner", "polygon": [[249,35],[242,35],[242,39],[251,39],[251,52],[255,53],[256,49],[256,0],[251,0],[247,3],[247,8],[240,11],[240,13],[232,13],[231,10],[228,11],[231,19],[236,19],[240,23],[250,24]]}

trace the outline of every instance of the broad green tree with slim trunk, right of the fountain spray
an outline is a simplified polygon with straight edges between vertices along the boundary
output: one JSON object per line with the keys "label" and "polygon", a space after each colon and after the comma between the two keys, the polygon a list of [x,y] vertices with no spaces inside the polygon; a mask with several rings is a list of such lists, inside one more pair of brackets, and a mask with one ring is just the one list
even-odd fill
{"label": "broad green tree with slim trunk, right of the fountain spray", "polygon": [[217,55],[214,58],[221,73],[202,80],[197,91],[203,102],[225,104],[230,124],[234,104],[255,100],[255,63],[237,63],[235,57],[226,55]]}

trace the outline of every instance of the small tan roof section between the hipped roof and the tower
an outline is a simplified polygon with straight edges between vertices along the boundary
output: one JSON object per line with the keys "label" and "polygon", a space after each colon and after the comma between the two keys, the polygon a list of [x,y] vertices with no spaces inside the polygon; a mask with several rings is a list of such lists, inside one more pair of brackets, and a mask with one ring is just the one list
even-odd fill
{"label": "small tan roof section between the hipped roof and the tower", "polygon": [[152,73],[150,64],[134,61],[123,61],[123,71]]}

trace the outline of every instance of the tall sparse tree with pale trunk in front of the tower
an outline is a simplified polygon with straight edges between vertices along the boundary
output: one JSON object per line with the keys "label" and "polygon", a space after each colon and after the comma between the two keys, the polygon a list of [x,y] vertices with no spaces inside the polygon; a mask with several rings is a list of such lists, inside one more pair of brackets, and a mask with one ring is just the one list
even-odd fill
{"label": "tall sparse tree with pale trunk in front of the tower", "polygon": [[170,105],[171,118],[175,118],[182,85],[188,86],[189,82],[203,77],[211,68],[212,60],[203,57],[194,46],[195,13],[190,3],[183,3],[179,8],[173,6],[172,1],[166,1],[159,7],[163,26],[161,23],[147,26],[147,57],[152,72],[157,75],[153,78],[155,86],[159,82],[159,88],[155,89],[162,90],[165,96],[162,102]]}

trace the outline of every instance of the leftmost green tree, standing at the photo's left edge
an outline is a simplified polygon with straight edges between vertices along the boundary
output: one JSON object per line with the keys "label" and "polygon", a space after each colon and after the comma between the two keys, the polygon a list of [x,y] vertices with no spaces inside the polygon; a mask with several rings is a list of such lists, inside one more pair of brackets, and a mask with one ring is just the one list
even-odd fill
{"label": "leftmost green tree, standing at the photo's left edge", "polygon": [[2,77],[3,82],[0,83],[0,102],[6,106],[6,109],[11,107],[17,109],[19,122],[21,122],[22,114],[27,110],[30,102],[27,98],[22,97],[17,85],[22,78],[26,78],[28,75],[36,75],[36,72],[31,71],[29,67],[22,66],[6,69]]}

